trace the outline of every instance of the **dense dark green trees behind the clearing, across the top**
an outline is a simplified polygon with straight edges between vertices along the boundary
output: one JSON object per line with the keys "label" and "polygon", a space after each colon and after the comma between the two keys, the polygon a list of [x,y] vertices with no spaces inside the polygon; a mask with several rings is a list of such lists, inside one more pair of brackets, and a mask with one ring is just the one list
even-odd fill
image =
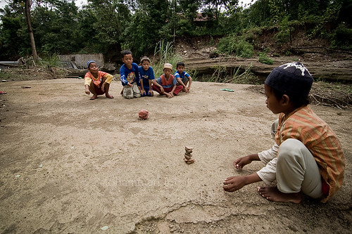
{"label": "dense dark green trees behind the clearing, across the top", "polygon": [[[305,27],[308,37],[352,50],[352,0],[258,0],[246,8],[238,0],[89,0],[82,8],[73,0],[33,0],[30,10],[39,56],[103,53],[113,59],[129,48],[138,58],[153,53],[158,41],[206,35],[223,37],[220,52],[251,57],[252,34],[272,27],[277,43]],[[31,55],[24,11],[24,0],[0,10],[0,60]]]}

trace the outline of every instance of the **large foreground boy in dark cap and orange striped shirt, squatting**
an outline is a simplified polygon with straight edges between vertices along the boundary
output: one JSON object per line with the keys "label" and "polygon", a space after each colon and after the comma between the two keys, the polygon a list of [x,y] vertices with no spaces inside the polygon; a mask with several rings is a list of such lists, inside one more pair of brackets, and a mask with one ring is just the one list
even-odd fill
{"label": "large foreground boy in dark cap and orange striped shirt, squatting", "polygon": [[[249,183],[264,181],[258,193],[274,202],[303,200],[303,194],[327,202],[342,185],[344,152],[337,136],[308,105],[313,77],[301,63],[276,67],[265,80],[265,103],[279,119],[275,145],[258,154],[239,157],[234,167],[242,169],[253,160],[266,165],[248,176],[231,176],[224,190],[234,192]],[[276,180],[277,186],[270,186]]]}

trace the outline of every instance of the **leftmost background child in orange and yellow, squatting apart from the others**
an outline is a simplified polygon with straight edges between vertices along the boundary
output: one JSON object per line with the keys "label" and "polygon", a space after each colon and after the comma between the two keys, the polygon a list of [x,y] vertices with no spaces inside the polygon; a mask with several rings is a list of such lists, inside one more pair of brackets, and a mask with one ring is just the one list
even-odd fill
{"label": "leftmost background child in orange and yellow, squatting apart from the others", "polygon": [[98,98],[98,95],[105,93],[106,98],[113,98],[109,94],[110,84],[113,81],[113,76],[106,72],[99,71],[98,65],[94,60],[89,60],[87,63],[88,72],[84,75],[85,93],[88,95],[93,93],[90,100]]}

